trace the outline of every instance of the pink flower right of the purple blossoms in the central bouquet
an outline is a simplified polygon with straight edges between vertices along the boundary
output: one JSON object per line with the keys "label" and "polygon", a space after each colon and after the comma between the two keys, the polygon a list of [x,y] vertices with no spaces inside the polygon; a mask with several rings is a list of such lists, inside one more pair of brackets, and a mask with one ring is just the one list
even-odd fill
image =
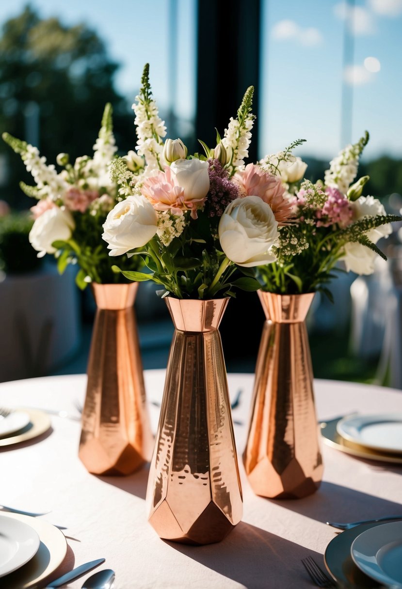
{"label": "pink flower right of the purple blossoms in the central bouquet", "polygon": [[248,164],[245,170],[236,172],[233,181],[239,185],[242,196],[259,196],[269,204],[279,225],[295,218],[294,199],[286,197],[280,178],[271,176],[255,164]]}

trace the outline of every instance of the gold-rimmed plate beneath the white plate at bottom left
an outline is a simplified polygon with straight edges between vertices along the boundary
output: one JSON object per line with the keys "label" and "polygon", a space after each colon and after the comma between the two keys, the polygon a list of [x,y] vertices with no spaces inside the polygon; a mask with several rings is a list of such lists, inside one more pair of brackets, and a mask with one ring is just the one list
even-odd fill
{"label": "gold-rimmed plate beneath the white plate at bottom left", "polygon": [[42,587],[42,581],[57,569],[67,553],[64,534],[44,519],[11,513],[2,517],[24,522],[34,528],[39,535],[40,543],[37,553],[27,564],[0,578],[0,588],[29,589],[39,584]]}

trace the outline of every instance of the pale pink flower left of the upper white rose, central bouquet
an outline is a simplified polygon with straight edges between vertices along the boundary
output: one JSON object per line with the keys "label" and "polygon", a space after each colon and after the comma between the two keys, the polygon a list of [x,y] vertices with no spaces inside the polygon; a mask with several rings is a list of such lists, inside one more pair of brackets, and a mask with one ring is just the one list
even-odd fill
{"label": "pale pink flower left of the upper white rose, central bouquet", "polygon": [[174,215],[191,210],[193,219],[197,219],[197,207],[205,203],[205,197],[191,198],[191,195],[186,195],[169,166],[164,168],[164,172],[159,171],[156,176],[147,178],[141,193],[148,198],[155,210],[170,211]]}

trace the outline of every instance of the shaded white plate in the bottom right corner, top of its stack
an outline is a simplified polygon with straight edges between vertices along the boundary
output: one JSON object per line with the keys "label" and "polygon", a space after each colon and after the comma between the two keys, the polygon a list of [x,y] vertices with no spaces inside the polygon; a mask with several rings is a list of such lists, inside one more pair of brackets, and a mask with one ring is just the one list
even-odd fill
{"label": "shaded white plate in the bottom right corner, top of its stack", "polygon": [[362,532],[352,543],[351,556],[369,577],[402,588],[402,522],[377,525]]}

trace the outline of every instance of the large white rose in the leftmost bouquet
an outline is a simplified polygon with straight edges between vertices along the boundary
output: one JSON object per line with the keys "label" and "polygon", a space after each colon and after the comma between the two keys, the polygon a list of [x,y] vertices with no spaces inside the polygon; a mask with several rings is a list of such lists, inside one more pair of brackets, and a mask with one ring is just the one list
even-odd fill
{"label": "large white rose in the leftmost bouquet", "polygon": [[52,246],[53,241],[67,241],[75,229],[75,223],[70,211],[52,207],[42,213],[29,231],[29,243],[37,250],[38,257],[54,254],[57,250]]}

